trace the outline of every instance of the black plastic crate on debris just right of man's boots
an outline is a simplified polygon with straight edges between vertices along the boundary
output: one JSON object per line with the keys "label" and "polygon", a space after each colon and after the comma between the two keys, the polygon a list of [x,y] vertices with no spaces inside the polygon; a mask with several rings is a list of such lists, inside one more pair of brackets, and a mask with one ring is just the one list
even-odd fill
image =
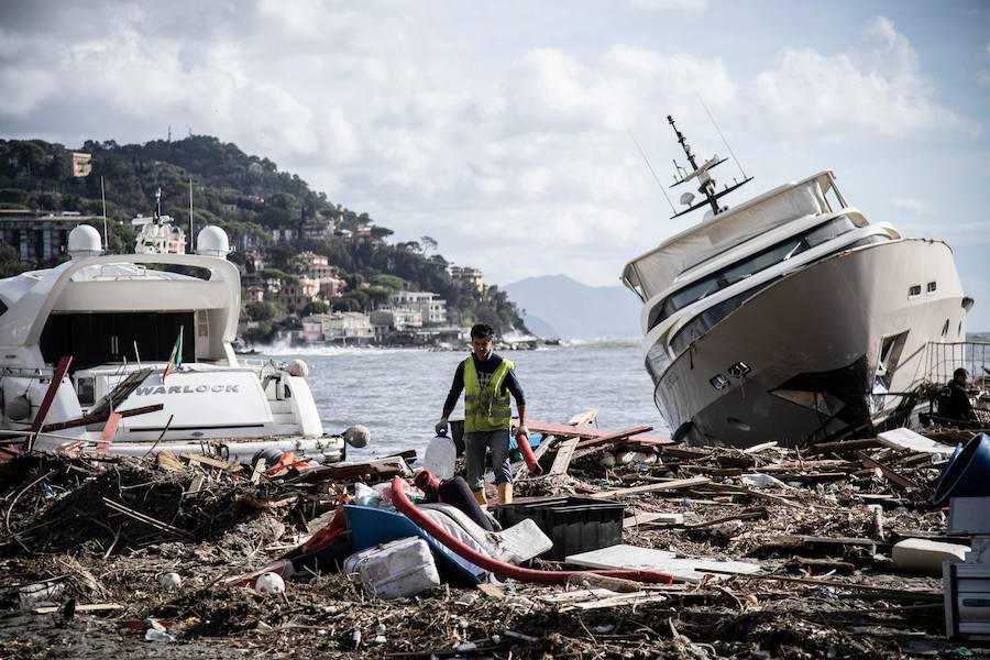
{"label": "black plastic crate on debris just right of man's boots", "polygon": [[560,497],[504,504],[495,509],[495,515],[503,527],[512,527],[522,518],[532,518],[553,541],[553,548],[543,557],[561,561],[568,554],[622,543],[625,508],[626,505],[620,502]]}

